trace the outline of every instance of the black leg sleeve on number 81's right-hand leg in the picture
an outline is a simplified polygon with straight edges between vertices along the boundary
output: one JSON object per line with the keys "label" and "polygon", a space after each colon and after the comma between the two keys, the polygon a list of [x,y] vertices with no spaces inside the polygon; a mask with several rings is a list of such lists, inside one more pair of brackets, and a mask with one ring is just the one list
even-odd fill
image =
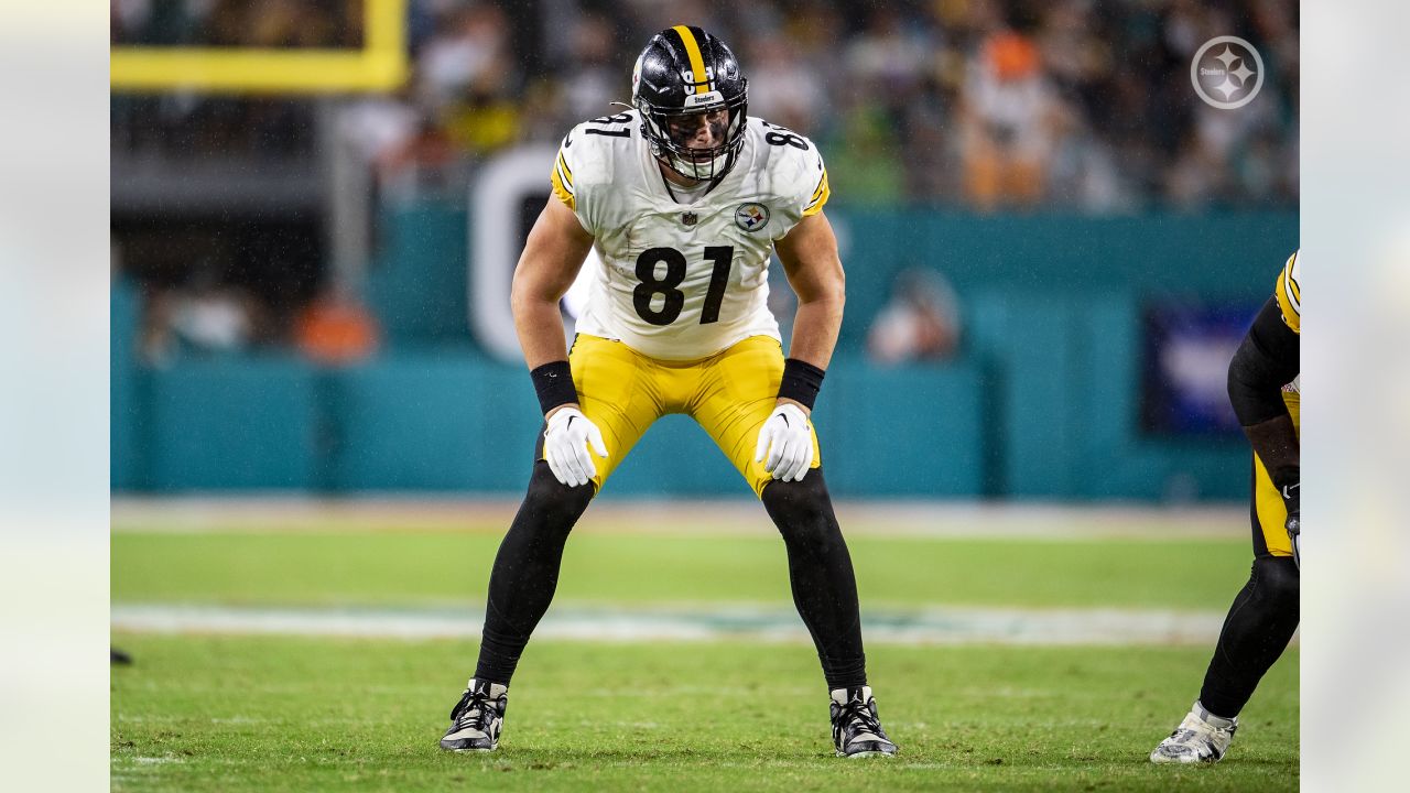
{"label": "black leg sleeve on number 81's right-hand leg in the picture", "polygon": [[794,604],[812,634],[828,689],[866,686],[857,581],[822,468],[802,481],[768,483],[763,501],[788,547]]}

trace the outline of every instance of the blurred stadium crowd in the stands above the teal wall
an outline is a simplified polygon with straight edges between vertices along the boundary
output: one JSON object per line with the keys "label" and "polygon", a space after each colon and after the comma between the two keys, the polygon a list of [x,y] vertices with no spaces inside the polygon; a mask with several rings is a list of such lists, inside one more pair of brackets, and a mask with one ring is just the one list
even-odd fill
{"label": "blurred stadium crowd in the stands above the teal wall", "polygon": [[[462,190],[496,150],[557,141],[629,102],[661,27],[719,34],[750,113],[822,147],[840,205],[1139,212],[1297,203],[1297,4],[1289,0],[409,0],[413,75],[340,127],[386,196]],[[1215,35],[1262,54],[1263,97],[1198,102]],[[113,0],[114,45],[360,47],[358,0]],[[298,157],[307,99],[113,97],[114,152]]]}

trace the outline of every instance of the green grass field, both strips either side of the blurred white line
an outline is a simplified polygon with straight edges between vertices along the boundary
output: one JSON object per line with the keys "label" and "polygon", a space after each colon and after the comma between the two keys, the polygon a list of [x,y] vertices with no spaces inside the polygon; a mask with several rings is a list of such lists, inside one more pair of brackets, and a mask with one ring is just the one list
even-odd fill
{"label": "green grass field, both strips either side of the blurred white line", "polygon": [[[464,605],[492,533],[113,536],[113,601]],[[1222,611],[1235,539],[850,539],[863,610],[935,605]],[[588,532],[556,605],[788,603],[767,536]],[[1146,762],[1197,693],[1208,646],[871,643],[902,748],[830,756],[826,693],[797,642],[536,641],[501,751],[436,741],[472,641],[114,632],[114,790],[1287,790],[1297,783],[1297,652],[1273,667],[1213,768]]]}

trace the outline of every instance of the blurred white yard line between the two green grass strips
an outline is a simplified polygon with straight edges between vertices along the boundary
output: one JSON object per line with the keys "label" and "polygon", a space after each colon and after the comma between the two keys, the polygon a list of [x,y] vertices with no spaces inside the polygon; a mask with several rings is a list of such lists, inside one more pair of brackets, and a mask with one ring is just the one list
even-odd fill
{"label": "blurred white yard line between the two green grass strips", "polygon": [[[1210,645],[1222,612],[1159,610],[926,608],[863,614],[869,643],[893,645]],[[116,631],[155,634],[274,634],[396,639],[478,639],[478,608],[316,610],[116,604]],[[712,611],[554,608],[536,638],[587,642],[750,639],[808,642],[787,608]]]}

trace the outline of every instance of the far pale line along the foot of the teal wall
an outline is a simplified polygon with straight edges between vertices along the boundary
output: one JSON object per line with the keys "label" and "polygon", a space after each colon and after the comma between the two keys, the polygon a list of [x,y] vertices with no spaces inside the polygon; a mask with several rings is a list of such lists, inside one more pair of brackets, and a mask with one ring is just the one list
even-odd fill
{"label": "far pale line along the foot of the teal wall", "polygon": [[[503,498],[307,497],[116,498],[114,532],[491,532],[501,533],[517,502]],[[1039,539],[1211,539],[1248,536],[1248,507],[987,504],[974,501],[842,501],[852,536]],[[594,504],[577,529],[592,533],[771,533],[752,498],[612,501]]]}

